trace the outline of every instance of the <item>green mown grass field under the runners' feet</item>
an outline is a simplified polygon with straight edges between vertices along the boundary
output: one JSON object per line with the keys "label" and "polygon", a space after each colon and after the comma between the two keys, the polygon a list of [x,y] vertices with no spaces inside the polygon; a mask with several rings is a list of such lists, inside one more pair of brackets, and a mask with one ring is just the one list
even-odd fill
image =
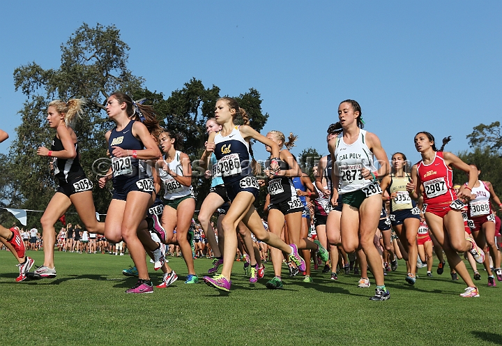
{"label": "green mown grass field under the runners' feet", "polygon": [[[43,252],[29,252],[35,264]],[[466,287],[442,276],[404,282],[404,262],[386,276],[388,301],[370,301],[372,287],[358,278],[312,271],[314,283],[286,277],[284,289],[268,290],[265,278],[251,285],[243,263],[234,264],[232,290],[223,294],[203,283],[185,285],[181,258],[169,257],[178,281],[153,294],[125,294],[135,278],[121,270],[128,255],[56,253],[54,279],[15,283],[13,256],[0,252],[3,345],[502,345],[502,283],[478,281],[480,298],[459,296]],[[195,260],[199,277],[211,260]],[[160,283],[161,273],[151,278]]]}

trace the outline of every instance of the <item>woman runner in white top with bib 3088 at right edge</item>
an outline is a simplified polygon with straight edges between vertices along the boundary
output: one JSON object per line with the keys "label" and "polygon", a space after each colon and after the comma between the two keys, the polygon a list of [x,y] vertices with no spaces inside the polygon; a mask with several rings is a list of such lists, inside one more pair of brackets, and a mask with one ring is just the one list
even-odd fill
{"label": "woman runner in white top with bib 3088 at right edge", "polygon": [[[470,164],[470,166],[475,168],[478,171],[478,174],[481,173],[476,165]],[[492,198],[495,204],[499,206],[499,211],[502,211],[501,201],[495,194],[492,183],[489,181],[476,181],[472,189],[467,215],[469,220],[473,221],[471,233],[474,240],[480,248],[485,248],[485,244],[487,244],[489,254],[492,255],[494,263],[499,263],[500,253],[495,244],[495,214],[492,213],[490,198]],[[485,269],[488,273],[488,285],[496,286],[495,278],[489,265],[488,252],[485,253],[485,262],[483,262],[483,264],[485,264]],[[502,281],[501,269],[496,268],[495,272],[497,280]]]}

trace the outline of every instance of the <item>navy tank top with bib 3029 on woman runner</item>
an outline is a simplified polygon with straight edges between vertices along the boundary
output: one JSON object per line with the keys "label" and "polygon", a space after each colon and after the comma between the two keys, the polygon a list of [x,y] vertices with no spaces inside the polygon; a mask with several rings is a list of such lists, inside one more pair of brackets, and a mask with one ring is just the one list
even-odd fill
{"label": "navy tank top with bib 3029 on woman runner", "polygon": [[119,146],[122,149],[142,150],[144,148],[142,141],[132,135],[132,125],[134,120],[129,121],[126,128],[117,131],[116,127],[112,130],[108,140],[108,151],[112,156],[113,183],[125,183],[130,179],[138,179],[139,160],[130,156],[116,158],[113,155],[112,146]]}

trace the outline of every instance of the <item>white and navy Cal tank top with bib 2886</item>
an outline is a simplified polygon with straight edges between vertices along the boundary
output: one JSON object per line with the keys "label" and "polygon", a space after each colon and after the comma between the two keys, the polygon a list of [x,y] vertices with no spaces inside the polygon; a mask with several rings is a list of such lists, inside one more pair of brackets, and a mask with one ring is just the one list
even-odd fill
{"label": "white and navy Cal tank top with bib 2886", "polygon": [[216,173],[221,174],[226,185],[252,176],[249,143],[242,137],[238,126],[225,137],[221,131],[216,134],[215,156],[218,160]]}

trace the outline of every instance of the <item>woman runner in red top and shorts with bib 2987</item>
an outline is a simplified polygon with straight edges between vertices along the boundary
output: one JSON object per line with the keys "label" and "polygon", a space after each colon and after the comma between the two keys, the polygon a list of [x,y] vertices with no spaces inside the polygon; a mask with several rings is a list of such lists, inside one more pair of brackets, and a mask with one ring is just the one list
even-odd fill
{"label": "woman runner in red top and shorts with bib 2987", "polygon": [[[482,263],[485,253],[472,238],[464,236],[464,220],[459,201],[471,198],[472,187],[478,181],[478,171],[470,167],[452,153],[437,151],[434,136],[428,132],[419,132],[415,136],[415,147],[422,160],[413,166],[411,182],[406,189],[414,200],[423,196],[423,210],[429,231],[439,242],[448,258],[452,269],[460,275],[468,286],[462,297],[477,297],[478,287],[474,285],[466,266],[458,253],[470,251],[474,259]],[[460,188],[458,195],[452,187],[451,166],[469,173],[469,183]]]}

